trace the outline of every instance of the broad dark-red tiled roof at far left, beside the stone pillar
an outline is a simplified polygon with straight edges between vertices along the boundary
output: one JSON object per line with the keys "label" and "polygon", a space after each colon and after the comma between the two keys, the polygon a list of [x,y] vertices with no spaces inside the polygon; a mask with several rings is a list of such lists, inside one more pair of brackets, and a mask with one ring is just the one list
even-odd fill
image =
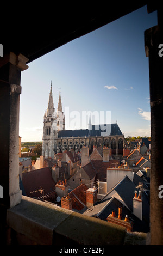
{"label": "broad dark-red tiled roof at far left, beside the stone pillar", "polygon": [[[49,167],[23,173],[22,182],[27,197],[40,197],[55,190],[55,182]],[[34,192],[41,188],[43,189],[42,193]]]}

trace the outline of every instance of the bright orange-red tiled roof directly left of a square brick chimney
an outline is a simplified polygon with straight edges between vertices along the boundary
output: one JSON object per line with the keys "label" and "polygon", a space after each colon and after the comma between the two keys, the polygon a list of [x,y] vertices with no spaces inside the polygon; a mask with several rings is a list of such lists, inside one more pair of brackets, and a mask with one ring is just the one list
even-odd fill
{"label": "bright orange-red tiled roof directly left of a square brick chimney", "polygon": [[72,199],[72,208],[78,211],[82,210],[86,206],[86,190],[87,186],[81,184],[74,188],[68,195]]}

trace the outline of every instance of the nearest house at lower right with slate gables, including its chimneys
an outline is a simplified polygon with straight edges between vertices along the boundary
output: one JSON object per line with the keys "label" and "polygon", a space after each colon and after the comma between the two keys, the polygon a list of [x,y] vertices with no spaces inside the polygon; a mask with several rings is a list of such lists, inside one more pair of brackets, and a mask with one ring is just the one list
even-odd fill
{"label": "nearest house at lower right with slate gables, including its chimneys", "polygon": [[[142,190],[138,196],[139,188]],[[83,210],[83,214],[86,216],[124,225],[128,231],[148,232],[149,186],[136,173],[133,175],[133,181],[126,175],[101,200]],[[126,216],[127,223],[124,221]]]}

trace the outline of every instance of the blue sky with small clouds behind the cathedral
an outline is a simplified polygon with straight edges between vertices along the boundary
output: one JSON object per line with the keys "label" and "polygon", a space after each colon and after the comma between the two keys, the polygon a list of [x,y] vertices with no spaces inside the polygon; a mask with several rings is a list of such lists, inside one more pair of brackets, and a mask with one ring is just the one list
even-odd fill
{"label": "blue sky with small clouds behind the cathedral", "polygon": [[22,142],[42,141],[51,81],[55,111],[61,92],[66,130],[87,128],[84,113],[97,113],[92,124],[110,113],[125,137],[151,136],[144,32],[156,25],[156,11],[145,6],[29,63],[21,75]]}

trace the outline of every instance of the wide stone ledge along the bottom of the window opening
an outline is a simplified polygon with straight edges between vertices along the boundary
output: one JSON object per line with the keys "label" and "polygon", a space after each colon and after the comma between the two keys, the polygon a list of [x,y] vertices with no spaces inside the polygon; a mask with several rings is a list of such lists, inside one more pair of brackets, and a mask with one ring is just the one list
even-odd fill
{"label": "wide stone ledge along the bottom of the window opening", "polygon": [[37,245],[133,245],[135,237],[136,244],[146,240],[146,234],[137,239],[119,225],[25,196],[7,210],[7,225],[17,237]]}

